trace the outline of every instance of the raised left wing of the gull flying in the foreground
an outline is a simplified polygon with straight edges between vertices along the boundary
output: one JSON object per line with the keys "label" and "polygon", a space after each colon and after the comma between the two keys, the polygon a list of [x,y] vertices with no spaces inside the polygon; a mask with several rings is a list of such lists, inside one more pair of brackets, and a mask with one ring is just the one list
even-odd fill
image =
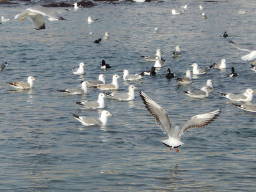
{"label": "raised left wing of the gull flying in the foreground", "polygon": [[164,109],[159,106],[153,99],[148,97],[147,94],[140,91],[140,97],[143,100],[148,112],[154,116],[157,124],[159,124],[160,128],[164,133],[170,132],[172,128],[172,124],[168,118],[168,115],[165,113]]}

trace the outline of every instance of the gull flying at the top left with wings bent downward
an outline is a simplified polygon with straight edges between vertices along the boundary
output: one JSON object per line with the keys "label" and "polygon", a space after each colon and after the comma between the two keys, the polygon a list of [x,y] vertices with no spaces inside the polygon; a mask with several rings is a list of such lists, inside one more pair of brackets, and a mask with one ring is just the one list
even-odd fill
{"label": "gull flying at the top left with wings bent downward", "polygon": [[35,27],[36,30],[45,29],[44,16],[47,16],[49,20],[66,20],[63,17],[60,17],[60,13],[69,11],[70,9],[65,10],[55,10],[54,8],[48,8],[43,6],[33,6],[27,8],[23,12],[15,15],[14,19],[22,17],[20,20],[24,20],[26,15],[28,15]]}

